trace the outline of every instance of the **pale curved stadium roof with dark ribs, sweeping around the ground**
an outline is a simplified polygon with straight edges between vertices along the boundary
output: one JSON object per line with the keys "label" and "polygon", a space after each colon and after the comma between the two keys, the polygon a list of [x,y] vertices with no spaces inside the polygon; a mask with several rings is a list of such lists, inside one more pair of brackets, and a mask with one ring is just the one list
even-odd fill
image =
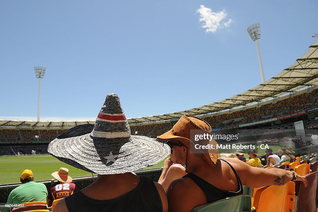
{"label": "pale curved stadium roof with dark ribs, sweeping around the ground", "polygon": [[[129,124],[156,122],[170,119],[178,119],[182,115],[198,116],[233,109],[251,103],[261,102],[269,98],[279,97],[289,92],[298,91],[306,86],[314,86],[318,83],[318,42],[309,46],[309,51],[297,59],[294,65],[284,69],[280,74],[272,77],[259,86],[249,89],[244,93],[227,98],[223,101],[209,105],[183,110],[180,112],[162,114],[158,116],[128,118]],[[78,124],[94,122],[23,122],[1,121],[2,126],[29,126],[29,127],[71,127]]]}

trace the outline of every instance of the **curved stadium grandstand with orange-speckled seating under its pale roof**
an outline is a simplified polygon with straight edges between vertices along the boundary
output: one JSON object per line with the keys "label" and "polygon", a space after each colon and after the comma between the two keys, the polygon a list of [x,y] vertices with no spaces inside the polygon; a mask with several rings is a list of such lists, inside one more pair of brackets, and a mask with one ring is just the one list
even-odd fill
{"label": "curved stadium grandstand with orange-speckled seating under its pale roof", "polygon": [[[213,129],[292,129],[302,120],[305,129],[318,128],[318,42],[259,86],[223,101],[158,116],[128,118],[132,134],[156,137],[168,131],[183,114],[206,120]],[[28,122],[0,120],[0,154],[39,153],[67,129],[94,122]]]}

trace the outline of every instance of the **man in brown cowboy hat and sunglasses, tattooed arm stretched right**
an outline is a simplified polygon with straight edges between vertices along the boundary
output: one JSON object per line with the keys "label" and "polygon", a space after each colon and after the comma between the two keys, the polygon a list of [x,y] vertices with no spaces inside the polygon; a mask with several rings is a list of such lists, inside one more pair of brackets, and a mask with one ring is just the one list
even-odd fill
{"label": "man in brown cowboy hat and sunglasses, tattooed arm stretched right", "polygon": [[208,151],[202,152],[193,139],[198,134],[193,133],[211,133],[211,126],[198,117],[183,115],[170,131],[157,137],[172,146],[175,163],[185,164],[188,172],[169,185],[171,212],[190,212],[199,205],[242,194],[242,185],[254,188],[297,180],[307,186],[306,178],[290,171],[255,168],[233,158],[218,159],[218,149],[212,148],[217,145],[213,139],[206,140],[203,146]]}

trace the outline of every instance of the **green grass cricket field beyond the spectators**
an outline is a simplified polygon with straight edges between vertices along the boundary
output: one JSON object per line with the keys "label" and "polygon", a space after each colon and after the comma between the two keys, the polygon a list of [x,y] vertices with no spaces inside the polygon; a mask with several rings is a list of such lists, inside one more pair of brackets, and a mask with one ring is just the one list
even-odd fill
{"label": "green grass cricket field beyond the spectators", "polygon": [[[273,151],[277,151],[279,146],[270,146]],[[220,152],[226,152],[219,150]],[[264,154],[265,150],[259,149],[259,154]],[[169,157],[169,156],[168,156]],[[248,155],[245,154],[248,158]],[[145,169],[155,169],[163,166],[163,161],[157,163],[154,166],[149,166]],[[73,166],[69,166],[51,155],[36,155],[32,156],[20,156],[20,157],[2,157],[0,158],[0,184],[18,183],[20,182],[20,174],[24,169],[31,169],[34,174],[34,180],[50,180],[52,172],[56,172],[60,167],[66,167],[69,169],[69,174],[72,177],[91,176],[91,173],[76,169]]]}

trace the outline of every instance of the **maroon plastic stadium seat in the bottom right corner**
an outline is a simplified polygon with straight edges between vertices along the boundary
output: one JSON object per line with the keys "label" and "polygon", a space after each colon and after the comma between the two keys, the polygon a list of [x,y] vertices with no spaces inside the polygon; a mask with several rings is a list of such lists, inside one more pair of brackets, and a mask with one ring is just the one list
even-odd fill
{"label": "maroon plastic stadium seat in the bottom right corner", "polygon": [[318,207],[318,172],[305,175],[308,186],[304,187],[300,181],[296,181],[295,194],[298,196],[297,212],[315,212]]}

